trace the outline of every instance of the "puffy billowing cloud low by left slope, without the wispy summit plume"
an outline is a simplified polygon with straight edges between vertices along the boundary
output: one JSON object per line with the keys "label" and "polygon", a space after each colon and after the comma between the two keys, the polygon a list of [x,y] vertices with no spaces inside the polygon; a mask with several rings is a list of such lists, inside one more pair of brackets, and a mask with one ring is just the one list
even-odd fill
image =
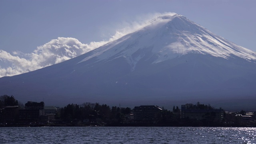
{"label": "puffy billowing cloud low by left slope, without the wispy summit plume", "polygon": [[24,54],[22,52],[12,52],[10,54],[9,52],[0,50],[0,60],[12,64],[12,66],[7,68],[0,67],[0,77],[14,76],[57,64],[84,54],[103,44],[106,44],[106,41],[82,44],[76,38],[58,37],[42,46],[38,46],[30,54]]}

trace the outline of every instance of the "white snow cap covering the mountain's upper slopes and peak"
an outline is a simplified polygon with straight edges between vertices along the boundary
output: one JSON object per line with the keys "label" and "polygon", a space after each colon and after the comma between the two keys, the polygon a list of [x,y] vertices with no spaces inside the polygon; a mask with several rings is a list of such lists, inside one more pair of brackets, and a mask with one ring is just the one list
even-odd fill
{"label": "white snow cap covering the mountain's upper slopes and peak", "polygon": [[98,48],[92,56],[81,62],[93,57],[98,60],[124,57],[135,67],[146,53],[133,56],[138,50],[155,54],[153,64],[188,53],[210,54],[226,59],[235,55],[246,60],[256,60],[256,52],[229,42],[184,16],[175,14],[155,18],[140,30]]}

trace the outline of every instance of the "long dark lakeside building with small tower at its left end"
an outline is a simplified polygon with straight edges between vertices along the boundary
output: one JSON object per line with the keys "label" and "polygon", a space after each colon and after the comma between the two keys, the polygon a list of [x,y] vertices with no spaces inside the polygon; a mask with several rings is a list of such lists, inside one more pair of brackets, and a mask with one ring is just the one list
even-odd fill
{"label": "long dark lakeside building with small tower at its left end", "polygon": [[181,118],[196,120],[212,119],[221,122],[224,118],[224,110],[220,109],[187,109],[186,105],[181,106]]}

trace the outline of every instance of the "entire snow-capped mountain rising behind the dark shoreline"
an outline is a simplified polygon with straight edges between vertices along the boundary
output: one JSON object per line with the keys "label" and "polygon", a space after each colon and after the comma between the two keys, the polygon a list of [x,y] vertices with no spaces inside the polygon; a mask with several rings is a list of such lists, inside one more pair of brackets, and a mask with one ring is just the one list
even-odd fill
{"label": "entire snow-capped mountain rising behind the dark shoreline", "polygon": [[[65,62],[0,78],[0,95],[46,105],[99,102],[253,107],[256,52],[175,14]],[[238,109],[240,110],[240,109]]]}

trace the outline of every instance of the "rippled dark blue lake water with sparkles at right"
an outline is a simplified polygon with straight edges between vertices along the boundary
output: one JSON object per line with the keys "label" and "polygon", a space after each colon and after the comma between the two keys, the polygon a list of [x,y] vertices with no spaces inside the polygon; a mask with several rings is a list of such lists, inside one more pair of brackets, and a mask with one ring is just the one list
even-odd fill
{"label": "rippled dark blue lake water with sparkles at right", "polygon": [[8,127],[0,144],[255,144],[256,128]]}

